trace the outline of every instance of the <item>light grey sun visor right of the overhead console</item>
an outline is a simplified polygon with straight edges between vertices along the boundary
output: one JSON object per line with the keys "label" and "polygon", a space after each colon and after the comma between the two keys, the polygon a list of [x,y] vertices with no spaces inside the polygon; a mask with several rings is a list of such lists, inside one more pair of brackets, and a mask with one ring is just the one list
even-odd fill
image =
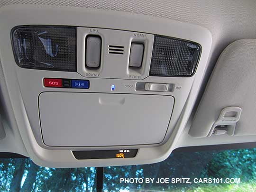
{"label": "light grey sun visor right of the overhead console", "polygon": [[220,55],[189,134],[206,137],[224,107],[242,108],[235,136],[256,135],[256,39],[241,39]]}

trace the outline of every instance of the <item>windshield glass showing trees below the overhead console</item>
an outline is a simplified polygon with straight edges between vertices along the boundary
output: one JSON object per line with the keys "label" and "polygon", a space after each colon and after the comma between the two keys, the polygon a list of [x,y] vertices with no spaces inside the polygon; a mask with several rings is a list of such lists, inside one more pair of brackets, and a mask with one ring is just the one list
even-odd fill
{"label": "windshield glass showing trees below the overhead console", "polygon": [[[0,191],[95,192],[96,168],[47,168],[28,158],[0,163]],[[256,148],[174,152],[151,165],[104,167],[104,192],[255,191]]]}

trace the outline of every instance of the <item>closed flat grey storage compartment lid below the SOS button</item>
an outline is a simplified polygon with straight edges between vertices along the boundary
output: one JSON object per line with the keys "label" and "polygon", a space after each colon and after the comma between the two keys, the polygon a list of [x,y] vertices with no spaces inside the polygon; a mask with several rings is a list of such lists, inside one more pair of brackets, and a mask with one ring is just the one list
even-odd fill
{"label": "closed flat grey storage compartment lid below the SOS button", "polygon": [[43,92],[39,96],[48,146],[161,143],[173,106],[173,97],[161,95]]}

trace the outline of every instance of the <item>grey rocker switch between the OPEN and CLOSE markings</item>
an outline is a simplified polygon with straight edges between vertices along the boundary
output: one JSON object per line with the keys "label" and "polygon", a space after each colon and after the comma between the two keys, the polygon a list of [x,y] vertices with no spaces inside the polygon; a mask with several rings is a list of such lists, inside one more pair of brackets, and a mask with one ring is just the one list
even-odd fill
{"label": "grey rocker switch between the OPEN and CLOSE markings", "polygon": [[132,43],[129,67],[141,67],[143,60],[144,45],[142,43]]}

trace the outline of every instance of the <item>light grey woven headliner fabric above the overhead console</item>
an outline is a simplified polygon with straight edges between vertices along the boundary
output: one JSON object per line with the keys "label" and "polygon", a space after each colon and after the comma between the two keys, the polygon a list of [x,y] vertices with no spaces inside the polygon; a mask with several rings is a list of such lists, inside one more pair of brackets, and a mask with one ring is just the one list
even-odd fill
{"label": "light grey woven headliner fabric above the overhead console", "polygon": [[226,46],[238,39],[256,38],[256,0],[0,0],[0,7],[10,4],[108,9],[206,27],[212,33],[209,74]]}

